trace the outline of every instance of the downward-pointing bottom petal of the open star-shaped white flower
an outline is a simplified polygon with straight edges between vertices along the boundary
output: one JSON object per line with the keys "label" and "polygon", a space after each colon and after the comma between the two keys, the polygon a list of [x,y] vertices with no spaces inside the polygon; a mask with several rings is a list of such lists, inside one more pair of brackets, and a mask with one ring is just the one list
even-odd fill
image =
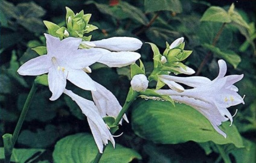
{"label": "downward-pointing bottom petal of the open star-shaped white flower", "polygon": [[50,100],[58,99],[60,95],[62,95],[66,87],[66,79],[63,78],[63,76],[59,75],[59,72],[57,72],[56,67],[51,67],[49,69],[48,84],[49,84],[51,93],[53,93]]}

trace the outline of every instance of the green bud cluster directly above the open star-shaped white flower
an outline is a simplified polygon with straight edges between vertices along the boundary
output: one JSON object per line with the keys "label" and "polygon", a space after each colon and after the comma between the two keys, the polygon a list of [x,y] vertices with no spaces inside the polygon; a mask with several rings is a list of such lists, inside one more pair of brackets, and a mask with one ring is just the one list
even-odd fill
{"label": "green bud cluster directly above the open star-shaped white flower", "polygon": [[91,40],[91,35],[84,36],[95,29],[97,26],[89,24],[91,14],[84,14],[83,10],[75,14],[70,8],[66,7],[66,27],[56,25],[53,22],[43,21],[48,28],[49,34],[59,37],[60,39],[66,37],[79,37],[83,41]]}

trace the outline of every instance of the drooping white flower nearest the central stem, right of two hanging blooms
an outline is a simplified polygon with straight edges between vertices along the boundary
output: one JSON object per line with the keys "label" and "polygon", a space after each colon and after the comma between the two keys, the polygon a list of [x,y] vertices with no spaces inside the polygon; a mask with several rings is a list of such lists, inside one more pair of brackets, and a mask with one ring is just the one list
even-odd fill
{"label": "drooping white flower nearest the central stem, right of two hanging blooms", "polygon": [[[107,88],[95,82],[96,91],[92,92],[92,99],[94,99],[95,105],[100,112],[101,117],[106,117],[106,115],[117,118],[117,115],[122,109],[122,106],[118,102],[117,98],[112,94]],[[123,116],[124,120],[127,122],[128,119],[126,114]],[[121,125],[122,121],[120,121]]]}

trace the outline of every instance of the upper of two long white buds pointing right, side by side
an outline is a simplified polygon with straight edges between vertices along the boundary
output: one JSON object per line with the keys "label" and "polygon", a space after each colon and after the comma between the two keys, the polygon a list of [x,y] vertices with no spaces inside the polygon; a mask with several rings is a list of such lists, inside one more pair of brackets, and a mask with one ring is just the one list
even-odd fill
{"label": "upper of two long white buds pointing right, side by side", "polygon": [[111,37],[91,42],[98,48],[109,49],[110,51],[136,51],[142,46],[142,42],[133,37]]}

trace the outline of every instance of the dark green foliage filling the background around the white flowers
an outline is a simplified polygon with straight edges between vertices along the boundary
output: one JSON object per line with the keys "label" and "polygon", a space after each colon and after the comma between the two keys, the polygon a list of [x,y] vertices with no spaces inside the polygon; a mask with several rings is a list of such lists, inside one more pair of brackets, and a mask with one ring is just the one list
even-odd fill
{"label": "dark green foliage filling the background around the white flowers", "polygon": [[[194,70],[199,68],[206,54],[211,54],[200,70],[200,76],[216,78],[217,60],[220,58],[228,63],[228,75],[245,75],[236,85],[239,94],[246,95],[245,105],[229,108],[231,113],[238,109],[234,117],[234,125],[229,128],[229,123],[224,123],[221,127],[228,135],[226,140],[222,135],[218,135],[210,123],[193,108],[179,104],[177,106],[181,106],[180,108],[171,108],[174,106],[170,102],[164,102],[170,105],[170,108],[167,108],[167,104],[162,103],[155,106],[157,101],[135,100],[133,109],[127,112],[130,123],[123,122],[123,126],[119,126],[117,133],[123,132],[123,135],[115,138],[117,142],[115,150],[107,146],[103,161],[106,159],[106,162],[113,162],[109,157],[115,157],[114,162],[120,160],[123,162],[221,162],[229,156],[232,162],[255,161],[255,2],[238,1],[234,6],[231,5],[231,1],[117,2],[115,4],[114,1],[103,0],[0,1],[1,135],[13,133],[28,91],[35,79],[33,76],[18,75],[16,71],[21,64],[37,57],[38,54],[46,54],[43,33],[48,30],[43,20],[46,20],[47,26],[55,26],[56,30],[50,32],[62,38],[64,28],[60,29],[60,26],[65,26],[65,7],[69,7],[74,14],[81,10],[84,10],[85,14],[92,14],[89,24],[97,26],[98,29],[90,32],[91,40],[114,36],[130,36],[142,40],[144,45],[138,52],[142,56],[144,67],[140,69],[141,64],[136,63],[138,66],[133,65],[132,75],[146,73],[148,76],[152,72],[153,51],[146,42],[155,44],[162,54],[166,42],[170,44],[178,37],[185,37],[185,50],[193,51],[190,57],[182,60],[181,63]],[[222,26],[224,28],[220,30]],[[74,28],[78,27],[72,27],[71,32],[74,32]],[[95,29],[93,26],[91,28]],[[58,29],[59,33],[56,33]],[[219,38],[216,40],[219,32]],[[88,37],[84,39],[89,39],[89,35],[86,36]],[[102,64],[94,64],[91,69],[92,79],[110,90],[123,106],[130,87],[130,67],[114,69]],[[21,134],[14,146],[13,152],[16,153],[16,158],[11,158],[11,161],[63,162],[68,159],[75,161],[80,159],[80,162],[92,161],[97,148],[89,135],[91,130],[81,109],[66,95],[62,95],[54,102],[50,101],[51,92],[46,86],[46,76],[37,78],[37,84],[44,85],[39,86],[31,103]],[[150,82],[149,85],[151,87],[154,84]],[[92,99],[89,91],[75,88],[71,83],[68,83],[67,87],[86,99]],[[195,117],[192,116],[194,114]],[[111,120],[112,118],[108,118],[106,121]],[[172,131],[177,135],[171,135]],[[81,132],[86,134],[78,134]],[[205,132],[208,133],[203,134]],[[2,141],[0,146],[3,146]],[[241,148],[242,146],[245,148]],[[85,159],[87,154],[90,159]],[[0,148],[0,159],[0,161],[4,159],[2,148]]]}

